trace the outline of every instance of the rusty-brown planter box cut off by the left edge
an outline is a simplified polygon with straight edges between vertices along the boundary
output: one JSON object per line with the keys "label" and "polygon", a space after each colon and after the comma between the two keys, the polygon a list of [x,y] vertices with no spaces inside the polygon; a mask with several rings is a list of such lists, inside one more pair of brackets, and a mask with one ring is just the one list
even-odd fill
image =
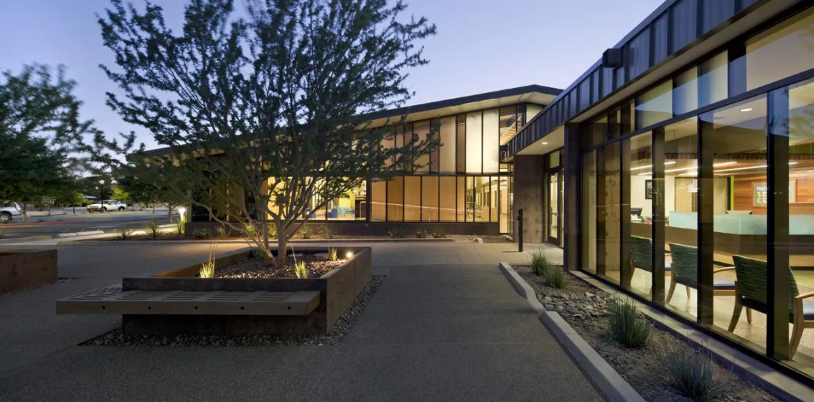
{"label": "rusty-brown planter box cut off by the left edge", "polygon": [[56,250],[0,252],[0,293],[46,285],[56,280]]}

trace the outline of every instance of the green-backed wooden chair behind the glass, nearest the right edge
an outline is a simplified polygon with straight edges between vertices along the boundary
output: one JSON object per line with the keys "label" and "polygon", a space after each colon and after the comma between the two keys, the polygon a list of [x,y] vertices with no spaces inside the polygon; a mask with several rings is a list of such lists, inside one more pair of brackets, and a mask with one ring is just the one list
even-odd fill
{"label": "green-backed wooden chair behind the glass, nearest the right edge", "polygon": [[[729,321],[729,332],[735,330],[737,320],[741,317],[741,309],[750,309],[768,313],[768,289],[766,278],[768,277],[768,264],[766,261],[754,260],[744,256],[733,256],[735,261],[735,273],[737,275],[735,309],[732,312],[732,321]],[[807,299],[814,296],[814,291],[800,294],[797,288],[797,280],[794,273],[789,269],[789,322],[794,325],[789,341],[789,358],[794,357],[800,339],[803,338],[803,330],[814,328],[814,302]],[[746,319],[751,323],[751,317],[747,312]]]}

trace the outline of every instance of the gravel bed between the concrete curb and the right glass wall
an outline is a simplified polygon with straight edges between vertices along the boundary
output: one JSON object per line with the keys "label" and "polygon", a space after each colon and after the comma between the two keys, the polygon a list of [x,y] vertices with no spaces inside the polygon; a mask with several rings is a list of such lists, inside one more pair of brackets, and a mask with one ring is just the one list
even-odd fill
{"label": "gravel bed between the concrete curb and the right glass wall", "polygon": [[[585,339],[599,356],[602,356],[616,372],[641,394],[645,400],[688,401],[672,387],[672,378],[663,368],[663,345],[677,343],[672,334],[651,328],[650,344],[644,348],[628,348],[616,342],[610,335],[607,305],[612,296],[593,285],[567,273],[562,290],[552,289],[532,273],[527,266],[514,266],[521,277],[532,286],[537,299],[546,309],[559,312],[562,318]],[[549,308],[551,307],[551,308]],[[681,347],[690,348],[685,343]],[[781,400],[767,391],[746,382],[729,369],[713,364],[715,395],[711,400],[775,401]]]}

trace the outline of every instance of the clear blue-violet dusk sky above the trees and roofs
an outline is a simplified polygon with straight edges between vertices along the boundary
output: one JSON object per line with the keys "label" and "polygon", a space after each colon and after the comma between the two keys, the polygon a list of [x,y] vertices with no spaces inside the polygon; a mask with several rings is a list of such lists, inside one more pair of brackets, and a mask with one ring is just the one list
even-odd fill
{"label": "clear blue-violet dusk sky above the trees and roofs", "polygon": [[[615,46],[663,0],[405,0],[438,33],[423,42],[426,66],[409,74],[409,105],[522,85],[564,89]],[[142,0],[133,0],[142,4]],[[171,28],[183,23],[183,0],[153,0]],[[108,136],[133,130],[147,148],[150,133],[105,104],[116,85],[98,67],[115,67],[96,14],[110,0],[0,0],[0,71],[24,64],[67,68],[84,104],[81,116]],[[243,1],[237,0],[239,7]]]}

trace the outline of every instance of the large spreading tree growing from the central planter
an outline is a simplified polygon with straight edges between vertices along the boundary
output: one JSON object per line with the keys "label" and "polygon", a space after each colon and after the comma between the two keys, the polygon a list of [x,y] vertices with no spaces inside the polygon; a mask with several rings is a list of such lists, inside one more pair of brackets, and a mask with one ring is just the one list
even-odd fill
{"label": "large spreading tree growing from the central planter", "polygon": [[159,154],[142,146],[131,160],[166,168],[168,188],[185,188],[188,202],[224,225],[258,228],[252,243],[269,256],[275,225],[282,264],[312,199],[324,208],[373,175],[426,166],[439,145],[433,132],[383,146],[405,116],[376,126],[366,116],[403,105],[413,94],[407,71],[427,63],[417,46],[435,25],[402,21],[405,9],[256,0],[241,18],[232,0],[192,0],[176,35],[160,7],[112,0],[98,22],[120,71],[103,69],[124,96],[107,94],[107,103],[168,146]]}

